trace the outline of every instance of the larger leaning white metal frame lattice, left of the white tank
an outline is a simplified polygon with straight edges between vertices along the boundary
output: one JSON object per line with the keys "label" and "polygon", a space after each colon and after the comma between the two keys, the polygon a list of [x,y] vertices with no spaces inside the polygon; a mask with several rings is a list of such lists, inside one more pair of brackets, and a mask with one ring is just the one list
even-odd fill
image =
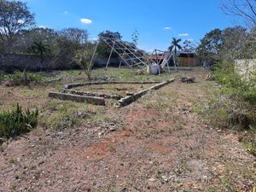
{"label": "larger leaning white metal frame lattice, left of the white tank", "polygon": [[150,57],[148,58],[148,60],[145,60],[145,57],[141,53],[140,49],[137,49],[137,47],[131,43],[121,41],[119,39],[101,37],[96,44],[96,48],[90,61],[90,66],[92,66],[93,64],[96,56],[96,50],[100,43],[107,44],[111,48],[110,54],[108,56],[106,69],[108,68],[113,52],[115,52],[117,55],[119,55],[119,58],[121,58],[119,67],[121,66],[122,62],[124,62],[128,67],[139,67],[140,69],[143,69],[148,65],[150,66],[154,63],[154,61],[150,59]]}

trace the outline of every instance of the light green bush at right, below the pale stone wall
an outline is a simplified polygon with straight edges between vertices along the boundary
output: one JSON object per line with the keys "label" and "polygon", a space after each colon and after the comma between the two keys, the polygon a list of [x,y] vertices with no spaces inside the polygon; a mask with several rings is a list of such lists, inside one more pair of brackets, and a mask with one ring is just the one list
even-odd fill
{"label": "light green bush at right, below the pale stone wall", "polygon": [[256,84],[253,79],[243,80],[235,73],[234,65],[220,63],[213,69],[214,77],[221,84],[213,93],[207,119],[218,127],[249,129],[256,123]]}

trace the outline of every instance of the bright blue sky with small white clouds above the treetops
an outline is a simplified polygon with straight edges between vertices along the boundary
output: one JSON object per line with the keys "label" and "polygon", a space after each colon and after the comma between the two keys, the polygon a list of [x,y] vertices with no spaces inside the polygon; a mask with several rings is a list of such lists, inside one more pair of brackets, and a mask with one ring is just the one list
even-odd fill
{"label": "bright blue sky with small white clouds above the treetops", "polygon": [[90,38],[105,30],[118,31],[126,41],[137,28],[138,47],[146,50],[167,49],[172,37],[199,42],[206,32],[233,22],[219,8],[220,0],[22,1],[36,15],[38,26],[84,28]]}

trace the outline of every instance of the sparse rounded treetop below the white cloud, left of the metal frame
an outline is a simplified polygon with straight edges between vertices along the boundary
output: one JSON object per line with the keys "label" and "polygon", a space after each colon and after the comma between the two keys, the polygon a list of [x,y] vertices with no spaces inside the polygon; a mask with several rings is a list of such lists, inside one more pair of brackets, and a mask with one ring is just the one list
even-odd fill
{"label": "sparse rounded treetop below the white cloud, left of the metal frame", "polygon": [[59,32],[61,36],[73,41],[77,41],[80,44],[85,44],[88,42],[89,33],[87,30],[79,28],[66,28]]}

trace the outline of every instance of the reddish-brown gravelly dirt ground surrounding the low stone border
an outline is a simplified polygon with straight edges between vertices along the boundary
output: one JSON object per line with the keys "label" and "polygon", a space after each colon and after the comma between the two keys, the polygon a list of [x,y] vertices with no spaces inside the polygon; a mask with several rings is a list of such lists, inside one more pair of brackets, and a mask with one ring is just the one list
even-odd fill
{"label": "reddish-brown gravelly dirt ground surrounding the low stone border", "polygon": [[[195,84],[176,81],[125,108],[52,101],[45,90],[58,84],[0,86],[1,108],[20,102],[42,113],[38,129],[1,146],[0,191],[253,191],[255,157],[195,113],[215,83],[204,69],[183,75]],[[61,129],[43,121],[63,111],[79,121]]]}

